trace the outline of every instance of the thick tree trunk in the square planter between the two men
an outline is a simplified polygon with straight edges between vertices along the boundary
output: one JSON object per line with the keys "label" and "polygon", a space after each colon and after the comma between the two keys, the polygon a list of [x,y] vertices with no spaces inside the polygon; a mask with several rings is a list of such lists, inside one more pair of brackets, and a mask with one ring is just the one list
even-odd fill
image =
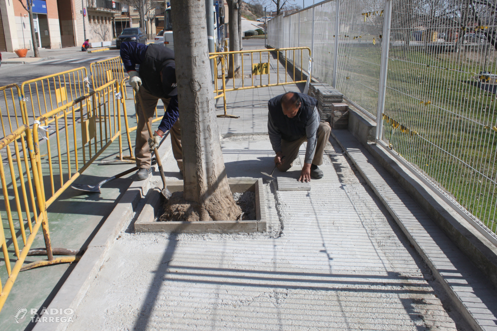
{"label": "thick tree trunk in the square planter between the two men", "polygon": [[236,220],[242,212],[228,185],[221,152],[207,53],[205,1],[172,0],[171,17],[173,38],[183,44],[174,50],[183,197],[198,207],[199,220]]}

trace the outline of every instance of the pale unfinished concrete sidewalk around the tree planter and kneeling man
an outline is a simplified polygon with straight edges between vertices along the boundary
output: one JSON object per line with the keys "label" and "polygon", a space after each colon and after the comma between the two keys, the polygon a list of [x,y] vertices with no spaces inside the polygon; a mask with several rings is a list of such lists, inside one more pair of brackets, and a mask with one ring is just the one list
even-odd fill
{"label": "pale unfinished concrete sidewalk around the tree planter and kneeling man", "polygon": [[[285,90],[228,92],[228,177],[272,169],[265,105]],[[276,175],[297,178],[304,154]],[[179,178],[172,155],[164,167]],[[130,220],[68,330],[469,330],[333,140],[320,168],[309,192],[265,179],[264,234],[134,234]]]}

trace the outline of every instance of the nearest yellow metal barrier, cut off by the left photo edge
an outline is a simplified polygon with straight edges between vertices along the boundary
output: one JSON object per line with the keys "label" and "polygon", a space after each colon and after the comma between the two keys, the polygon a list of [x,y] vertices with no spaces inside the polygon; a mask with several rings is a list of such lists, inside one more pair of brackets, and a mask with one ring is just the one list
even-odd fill
{"label": "nearest yellow metal barrier, cut off by the left photo edge", "polygon": [[[11,145],[13,145],[12,147],[16,159],[24,161],[16,162],[17,167],[14,167],[13,164]],[[27,125],[21,125],[12,133],[1,139],[0,149],[2,152],[6,152],[8,163],[8,169],[6,170],[3,165],[4,161],[2,160],[0,162],[1,187],[3,203],[5,206],[5,210],[0,213],[0,245],[8,275],[5,283],[1,286],[1,311],[19,271],[41,265],[70,263],[79,260],[79,257],[73,256],[56,259],[53,257],[54,254],[76,255],[78,252],[64,249],[52,250],[51,248],[45,199],[41,186],[40,159],[39,155],[36,155],[34,152],[33,138],[29,127]],[[7,179],[7,174],[9,174],[9,179]],[[10,238],[8,241],[3,230],[4,219],[7,220],[8,228],[10,230]],[[43,229],[45,249],[30,250],[40,226]],[[28,228],[28,232],[26,231],[26,228]],[[18,240],[21,241],[21,243],[18,242]],[[17,259],[13,268],[11,268],[11,257],[9,257],[7,247],[7,242],[10,241],[14,248],[15,255],[15,257],[12,258]],[[32,254],[46,254],[48,260],[37,261],[23,266],[26,257]]]}

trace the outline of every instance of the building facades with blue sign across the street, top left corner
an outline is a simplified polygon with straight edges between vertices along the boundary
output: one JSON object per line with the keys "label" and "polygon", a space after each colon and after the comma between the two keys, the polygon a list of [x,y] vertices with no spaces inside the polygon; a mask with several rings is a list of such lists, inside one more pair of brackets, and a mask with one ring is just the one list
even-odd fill
{"label": "building facades with blue sign across the street, top left corner", "polygon": [[[38,46],[62,48],[114,39],[114,18],[121,14],[115,0],[33,0]],[[32,49],[28,12],[19,0],[0,0],[0,51]]]}

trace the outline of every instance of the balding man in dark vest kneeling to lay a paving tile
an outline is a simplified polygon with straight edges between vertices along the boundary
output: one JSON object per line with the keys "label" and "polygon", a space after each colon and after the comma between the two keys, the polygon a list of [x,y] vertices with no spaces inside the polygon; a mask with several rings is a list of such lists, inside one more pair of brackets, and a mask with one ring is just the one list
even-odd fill
{"label": "balding man in dark vest kneeling to lay a paving tile", "polygon": [[299,156],[300,146],[307,141],[304,166],[299,181],[323,178],[318,166],[323,164],[323,153],[330,138],[331,128],[320,122],[318,101],[297,92],[288,92],[268,102],[267,131],[276,156],[274,164],[279,171],[287,171]]}

